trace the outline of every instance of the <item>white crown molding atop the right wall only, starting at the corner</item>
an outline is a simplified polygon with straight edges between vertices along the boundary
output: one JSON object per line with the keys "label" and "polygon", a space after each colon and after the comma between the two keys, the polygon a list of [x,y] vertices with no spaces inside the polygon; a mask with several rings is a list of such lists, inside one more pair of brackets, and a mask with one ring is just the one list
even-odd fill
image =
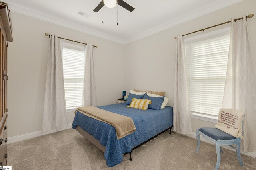
{"label": "white crown molding atop the right wall only, starting at the corner", "polygon": [[164,31],[165,29],[168,29],[170,27],[174,27],[176,25],[179,25],[181,23],[184,23],[189,20],[193,20],[194,18],[198,18],[200,16],[204,16],[206,14],[209,14],[211,12],[220,10],[222,8],[225,8],[227,6],[236,4],[238,2],[242,2],[244,0],[217,0],[215,2],[212,2],[210,4],[207,4],[205,6],[202,6],[200,8],[197,8],[191,12],[188,12],[186,14],[183,14],[177,18],[174,18],[173,20],[169,20],[166,23],[163,23],[162,25],[158,25],[152,29],[149,29],[147,31],[143,31],[141,33],[138,33],[128,39],[124,39],[124,44],[131,43],[133,41],[136,41],[138,39],[142,39],[144,37],[148,37],[149,35],[153,35],[155,33],[158,33],[160,31]]}

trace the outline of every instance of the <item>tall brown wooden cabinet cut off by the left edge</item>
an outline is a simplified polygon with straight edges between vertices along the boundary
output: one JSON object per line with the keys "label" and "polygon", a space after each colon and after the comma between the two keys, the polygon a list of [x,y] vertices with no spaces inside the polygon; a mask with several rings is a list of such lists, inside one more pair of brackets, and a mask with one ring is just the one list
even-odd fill
{"label": "tall brown wooden cabinet cut off by the left edge", "polygon": [[0,2],[0,166],[7,165],[7,47],[12,42],[12,24],[10,10]]}

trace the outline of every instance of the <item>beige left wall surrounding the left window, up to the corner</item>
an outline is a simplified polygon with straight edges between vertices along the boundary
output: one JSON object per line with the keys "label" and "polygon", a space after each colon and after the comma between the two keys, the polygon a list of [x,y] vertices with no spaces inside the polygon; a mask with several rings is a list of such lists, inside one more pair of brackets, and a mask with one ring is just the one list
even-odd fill
{"label": "beige left wall surrounding the left window, up to the corner", "polygon": [[[44,33],[98,45],[94,66],[98,105],[122,97],[124,45],[12,12],[14,41],[8,43],[8,137],[40,131],[49,39]],[[74,113],[68,113],[72,123]]]}

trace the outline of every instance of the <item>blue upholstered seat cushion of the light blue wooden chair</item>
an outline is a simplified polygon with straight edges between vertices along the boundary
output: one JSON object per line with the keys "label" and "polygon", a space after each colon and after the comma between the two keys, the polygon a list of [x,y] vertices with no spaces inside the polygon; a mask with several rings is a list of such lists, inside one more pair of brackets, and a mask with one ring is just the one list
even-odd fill
{"label": "blue upholstered seat cushion of the light blue wooden chair", "polygon": [[217,129],[217,128],[202,127],[199,129],[199,131],[204,133],[208,137],[215,139],[216,141],[219,139],[221,139],[221,140],[236,139],[236,137],[233,137],[232,135],[230,135],[224,131],[221,131],[220,129]]}

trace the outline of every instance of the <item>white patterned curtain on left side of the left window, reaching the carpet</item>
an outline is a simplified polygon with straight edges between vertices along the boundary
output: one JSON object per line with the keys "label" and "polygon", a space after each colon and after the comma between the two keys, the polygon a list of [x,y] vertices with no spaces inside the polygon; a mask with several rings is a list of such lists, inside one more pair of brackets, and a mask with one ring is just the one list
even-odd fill
{"label": "white patterned curtain on left side of the left window, reaching the carpet", "polygon": [[50,131],[68,126],[62,64],[62,40],[50,36],[44,95],[42,131]]}

